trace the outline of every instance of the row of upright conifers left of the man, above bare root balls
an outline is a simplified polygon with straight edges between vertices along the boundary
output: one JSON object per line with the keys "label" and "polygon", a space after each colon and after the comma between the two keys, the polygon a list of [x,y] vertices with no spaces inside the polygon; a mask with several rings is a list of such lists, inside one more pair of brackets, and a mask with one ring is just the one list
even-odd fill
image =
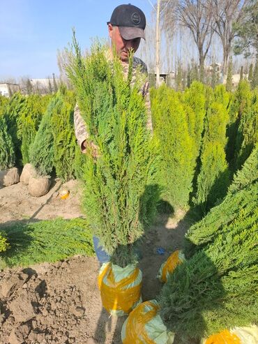
{"label": "row of upright conifers left of the man, above bare root balls", "polygon": [[74,107],[75,94],[66,87],[51,96],[0,97],[0,170],[31,163],[40,175],[79,177]]}

